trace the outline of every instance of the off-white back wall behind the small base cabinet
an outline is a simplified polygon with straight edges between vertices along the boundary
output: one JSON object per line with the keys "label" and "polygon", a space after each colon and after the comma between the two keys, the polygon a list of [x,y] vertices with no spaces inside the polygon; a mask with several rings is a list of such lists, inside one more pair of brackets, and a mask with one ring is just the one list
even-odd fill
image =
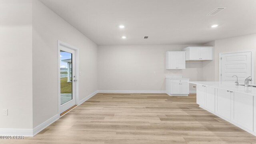
{"label": "off-white back wall behind the small base cabinet", "polygon": [[[98,47],[99,90],[165,90],[165,76],[202,80],[202,62],[186,62],[185,70],[166,70],[165,52],[192,45],[122,45]],[[156,74],[154,74],[156,72]],[[168,74],[168,72],[170,74]],[[138,84],[138,86],[136,86]],[[190,90],[196,90],[190,85]]]}

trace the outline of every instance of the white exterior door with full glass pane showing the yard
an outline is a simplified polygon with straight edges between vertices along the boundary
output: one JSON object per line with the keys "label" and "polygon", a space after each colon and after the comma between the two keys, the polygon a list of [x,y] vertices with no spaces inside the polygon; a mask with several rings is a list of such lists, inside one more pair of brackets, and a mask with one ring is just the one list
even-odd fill
{"label": "white exterior door with full glass pane showing the yard", "polygon": [[60,113],[76,105],[75,50],[60,46]]}

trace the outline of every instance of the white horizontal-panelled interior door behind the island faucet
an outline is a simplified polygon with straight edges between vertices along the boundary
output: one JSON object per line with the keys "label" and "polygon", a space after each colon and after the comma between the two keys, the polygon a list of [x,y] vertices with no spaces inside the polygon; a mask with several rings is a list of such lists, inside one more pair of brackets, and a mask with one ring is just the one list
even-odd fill
{"label": "white horizontal-panelled interior door behind the island faucet", "polygon": [[252,52],[221,54],[221,81],[235,82],[233,75],[238,76],[240,84],[252,76]]}

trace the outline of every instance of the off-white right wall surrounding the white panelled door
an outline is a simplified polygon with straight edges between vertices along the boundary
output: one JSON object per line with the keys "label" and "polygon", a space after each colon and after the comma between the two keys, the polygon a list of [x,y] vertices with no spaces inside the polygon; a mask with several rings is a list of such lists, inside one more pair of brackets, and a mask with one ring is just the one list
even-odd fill
{"label": "off-white right wall surrounding the white panelled door", "polygon": [[[219,54],[224,52],[241,52],[246,50],[256,50],[256,34],[216,40],[214,48],[215,81],[219,81]],[[256,64],[256,52],[254,52],[254,64]],[[254,76],[256,76],[255,68],[256,67],[254,66]]]}

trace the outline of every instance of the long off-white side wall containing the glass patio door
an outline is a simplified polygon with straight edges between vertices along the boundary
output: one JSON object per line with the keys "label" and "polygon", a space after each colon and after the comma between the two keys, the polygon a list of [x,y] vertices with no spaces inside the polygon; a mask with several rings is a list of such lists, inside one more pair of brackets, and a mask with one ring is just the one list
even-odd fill
{"label": "long off-white side wall containing the glass patio door", "polygon": [[79,48],[80,100],[98,90],[97,45],[48,7],[33,1],[33,127],[58,114],[57,40]]}

